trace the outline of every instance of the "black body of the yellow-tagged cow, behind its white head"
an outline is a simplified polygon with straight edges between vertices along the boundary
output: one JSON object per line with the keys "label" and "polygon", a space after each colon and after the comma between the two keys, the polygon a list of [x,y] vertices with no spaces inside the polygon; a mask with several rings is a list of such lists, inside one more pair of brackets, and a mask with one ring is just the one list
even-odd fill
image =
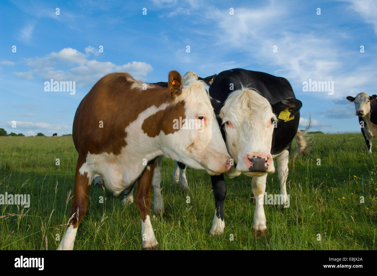
{"label": "black body of the yellow-tagged cow, behind its white head", "polygon": [[[233,90],[231,90],[232,86]],[[259,93],[266,98],[271,105],[286,98],[296,98],[292,86],[287,79],[264,72],[240,68],[219,73],[210,86],[209,93],[212,98],[215,98],[224,104],[228,95],[235,90],[241,89],[242,86],[259,91]],[[279,116],[279,114],[276,115]],[[292,115],[294,115],[293,120],[288,122],[279,120],[277,127],[274,128],[271,154],[282,152],[290,145],[296,135],[300,121],[300,111],[291,114],[291,116]]]}

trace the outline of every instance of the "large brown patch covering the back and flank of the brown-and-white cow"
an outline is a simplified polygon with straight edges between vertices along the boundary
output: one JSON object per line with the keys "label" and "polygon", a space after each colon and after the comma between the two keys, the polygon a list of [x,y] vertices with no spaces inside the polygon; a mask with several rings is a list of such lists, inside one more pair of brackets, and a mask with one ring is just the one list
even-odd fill
{"label": "large brown patch covering the back and flank of the brown-and-white cow", "polygon": [[[172,72],[169,80],[170,76],[179,79],[179,73]],[[170,101],[167,88],[131,88],[134,81],[127,73],[112,73],[101,78],[83,98],[77,108],[72,131],[79,154],[120,154],[127,145],[125,128],[147,108],[153,105],[159,107]],[[177,81],[173,87],[178,85],[179,88],[181,84]],[[103,128],[100,128],[100,121]]]}

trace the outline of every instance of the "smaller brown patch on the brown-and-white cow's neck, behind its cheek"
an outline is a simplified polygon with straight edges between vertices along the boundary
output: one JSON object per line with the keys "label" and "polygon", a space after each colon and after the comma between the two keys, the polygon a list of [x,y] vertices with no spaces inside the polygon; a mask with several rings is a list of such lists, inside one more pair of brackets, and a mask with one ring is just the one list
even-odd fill
{"label": "smaller brown patch on the brown-and-white cow's neck, behind its cheek", "polygon": [[[181,101],[176,105],[165,108],[164,110],[157,111],[155,114],[144,120],[141,129],[149,137],[156,137],[161,131],[163,131],[165,135],[175,133],[179,128],[173,128],[173,120],[178,119],[178,121],[183,121],[183,119],[186,118],[184,105],[185,101]],[[181,119],[179,117],[181,117]]]}

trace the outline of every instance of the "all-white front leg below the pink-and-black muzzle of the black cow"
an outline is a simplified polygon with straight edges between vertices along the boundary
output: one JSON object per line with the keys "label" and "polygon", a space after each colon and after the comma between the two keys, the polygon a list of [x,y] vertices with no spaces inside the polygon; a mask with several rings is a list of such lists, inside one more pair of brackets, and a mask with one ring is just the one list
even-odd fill
{"label": "all-white front leg below the pink-and-black muzzle of the black cow", "polygon": [[266,227],[266,216],[264,214],[264,207],[263,207],[263,197],[264,192],[266,190],[266,179],[267,174],[263,176],[254,176],[251,179],[251,186],[253,189],[254,197],[255,197],[255,212],[254,212],[254,221],[253,221],[253,229],[255,234],[258,238],[264,236],[264,232],[267,229]]}

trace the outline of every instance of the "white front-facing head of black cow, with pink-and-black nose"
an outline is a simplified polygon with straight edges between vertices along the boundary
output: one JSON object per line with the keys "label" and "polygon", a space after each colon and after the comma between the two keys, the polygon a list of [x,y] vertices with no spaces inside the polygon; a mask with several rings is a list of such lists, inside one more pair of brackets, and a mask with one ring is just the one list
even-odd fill
{"label": "white front-facing head of black cow, with pink-and-black nose", "polygon": [[288,108],[296,113],[302,103],[287,98],[271,106],[257,91],[249,88],[236,90],[228,96],[219,117],[225,128],[228,152],[236,163],[229,172],[235,176],[244,172],[261,176],[275,171],[271,155],[274,121],[280,111]]}

